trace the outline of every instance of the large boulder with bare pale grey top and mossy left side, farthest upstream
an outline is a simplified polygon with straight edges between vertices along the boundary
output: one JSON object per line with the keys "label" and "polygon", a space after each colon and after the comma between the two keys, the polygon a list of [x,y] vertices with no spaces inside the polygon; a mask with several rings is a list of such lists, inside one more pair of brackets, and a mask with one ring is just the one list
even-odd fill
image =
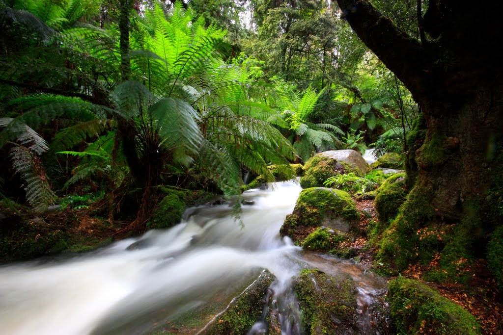
{"label": "large boulder with bare pale grey top and mossy left side, farthest upstream", "polygon": [[306,162],[300,185],[303,188],[323,186],[323,182],[333,175],[352,172],[363,177],[369,170],[367,162],[355,150],[324,151]]}

